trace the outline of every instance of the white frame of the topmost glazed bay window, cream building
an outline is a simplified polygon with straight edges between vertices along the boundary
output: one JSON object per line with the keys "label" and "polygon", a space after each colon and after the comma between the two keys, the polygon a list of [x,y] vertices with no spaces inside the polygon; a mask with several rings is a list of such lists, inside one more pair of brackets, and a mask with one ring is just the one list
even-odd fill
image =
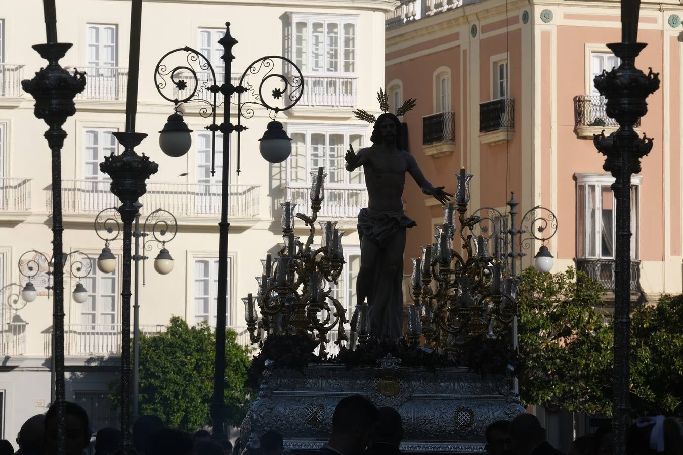
{"label": "white frame of the topmost glazed bay window, cream building", "polygon": [[[290,20],[290,36],[285,37],[290,39],[289,43],[289,55],[288,57],[296,63],[296,24],[306,23],[306,63],[303,66],[302,72],[304,75],[344,75],[344,76],[355,76],[358,68],[358,23],[359,17],[357,14],[309,14],[309,13],[299,13],[299,12],[288,12]],[[313,23],[322,23],[323,35],[322,40],[322,71],[313,71],[313,31],[311,25]],[[337,24],[337,71],[329,71],[327,63],[327,25]],[[354,48],[353,48],[353,71],[344,71],[344,25],[350,24],[354,27]]]}

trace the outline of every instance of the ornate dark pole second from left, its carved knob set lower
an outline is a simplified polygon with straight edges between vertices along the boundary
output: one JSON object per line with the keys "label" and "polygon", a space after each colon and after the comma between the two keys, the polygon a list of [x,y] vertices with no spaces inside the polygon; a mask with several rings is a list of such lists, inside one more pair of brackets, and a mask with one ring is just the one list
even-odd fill
{"label": "ornate dark pole second from left, its carved knob set lower", "polygon": [[100,163],[100,171],[111,177],[111,192],[116,194],[122,203],[118,211],[124,224],[121,291],[121,452],[123,455],[130,452],[130,262],[133,259],[130,253],[130,243],[133,237],[133,221],[138,211],[137,200],[147,191],[145,181],[158,170],[158,164],[150,161],[144,153],[142,156],[135,153],[135,147],[147,134],[135,132],[142,0],[133,0],[131,3],[126,132],[113,133],[119,143],[124,146],[124,151],[120,155],[112,153]]}

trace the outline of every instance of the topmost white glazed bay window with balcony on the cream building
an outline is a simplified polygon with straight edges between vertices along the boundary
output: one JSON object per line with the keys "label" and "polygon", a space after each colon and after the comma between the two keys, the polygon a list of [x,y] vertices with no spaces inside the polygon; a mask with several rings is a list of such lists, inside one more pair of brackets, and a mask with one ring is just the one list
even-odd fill
{"label": "topmost white glazed bay window with balcony on the cream building", "polygon": [[290,13],[289,57],[305,76],[299,101],[355,106],[358,16]]}

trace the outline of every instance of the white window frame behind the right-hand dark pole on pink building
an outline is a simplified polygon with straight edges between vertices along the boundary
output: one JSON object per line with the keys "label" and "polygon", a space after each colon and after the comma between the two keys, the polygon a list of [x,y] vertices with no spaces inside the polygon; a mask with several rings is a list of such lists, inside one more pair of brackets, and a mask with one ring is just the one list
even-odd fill
{"label": "white window frame behind the right-hand dark pole on pink building", "polygon": [[[631,259],[632,260],[637,260],[640,257],[640,214],[641,214],[641,181],[643,177],[641,175],[633,175],[631,177],[631,187],[637,187],[638,188],[638,193],[637,193],[637,204],[636,207],[631,207],[631,209],[636,210],[635,214],[635,226],[632,223],[631,226],[631,233],[632,233],[632,239],[635,240],[635,251],[631,252]],[[600,198],[602,197],[602,188],[607,187],[609,188],[615,181],[614,177],[611,175],[607,174],[594,174],[594,173],[576,173],[574,174],[574,180],[576,181],[576,259],[605,259],[605,260],[613,260],[615,259],[614,257],[603,257],[602,256],[602,248],[601,248],[601,241],[600,241],[600,232],[602,231],[600,229],[600,226],[602,226],[602,213],[601,213],[601,207],[602,204],[600,204]],[[579,188],[581,186],[596,186],[596,196],[594,200],[594,206],[596,207],[596,216],[595,216],[595,226],[591,227],[591,231],[593,232],[595,238],[595,250],[596,254],[591,255],[591,254],[583,254],[579,256],[579,251],[581,251],[581,239],[579,238],[579,232],[581,230],[581,224],[584,224],[584,229],[583,231],[587,232],[588,231],[588,225],[590,223],[589,217],[586,216],[586,214],[581,214],[579,213]],[[611,190],[610,190],[611,191]],[[585,192],[585,194],[588,194]],[[612,194],[612,226],[613,226],[613,233],[612,233],[612,238],[613,241],[616,241],[616,226],[615,226],[615,216],[616,216],[616,201],[614,199],[614,195]],[[585,246],[583,246],[583,250],[585,252],[589,251],[589,237],[585,237]]]}

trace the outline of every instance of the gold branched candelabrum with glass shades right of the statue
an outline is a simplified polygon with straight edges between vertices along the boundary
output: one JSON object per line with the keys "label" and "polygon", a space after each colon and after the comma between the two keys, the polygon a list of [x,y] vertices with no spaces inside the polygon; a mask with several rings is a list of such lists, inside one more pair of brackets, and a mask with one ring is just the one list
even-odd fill
{"label": "gold branched candelabrum with glass shades right of the statue", "polygon": [[[408,341],[422,340],[444,353],[455,353],[476,339],[497,338],[507,329],[516,314],[519,284],[517,278],[504,276],[501,258],[489,253],[490,237],[473,235],[482,218],[467,216],[472,175],[462,168],[456,177],[456,203],[443,206],[434,243],[422,246],[421,258],[412,259],[415,304],[406,308]],[[456,233],[462,254],[454,249]]]}

